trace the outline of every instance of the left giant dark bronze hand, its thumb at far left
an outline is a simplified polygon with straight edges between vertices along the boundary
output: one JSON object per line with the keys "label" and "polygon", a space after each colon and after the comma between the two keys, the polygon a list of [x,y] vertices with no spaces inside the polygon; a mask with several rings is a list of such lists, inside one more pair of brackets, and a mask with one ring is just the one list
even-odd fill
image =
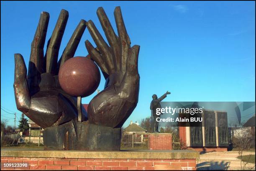
{"label": "left giant dark bronze hand, its thumb at far left", "polygon": [[27,69],[23,56],[15,54],[13,86],[17,108],[42,128],[58,126],[77,119],[77,98],[69,96],[61,89],[58,82],[58,71],[64,61],[74,56],[86,28],[86,21],[80,21],[57,63],[68,15],[66,10],[61,10],[44,56],[49,13],[41,13],[31,44],[28,76],[26,76]]}

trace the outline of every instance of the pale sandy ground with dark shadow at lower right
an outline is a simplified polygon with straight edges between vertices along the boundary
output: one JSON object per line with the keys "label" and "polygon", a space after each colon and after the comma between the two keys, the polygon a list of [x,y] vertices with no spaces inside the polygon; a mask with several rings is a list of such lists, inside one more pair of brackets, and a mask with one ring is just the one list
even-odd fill
{"label": "pale sandy ground with dark shadow at lower right", "polygon": [[[245,151],[243,155],[254,154],[255,151]],[[197,170],[241,170],[241,160],[236,158],[238,151],[210,152],[200,154]],[[243,162],[242,162],[243,166]],[[248,163],[246,170],[255,170],[254,163]]]}

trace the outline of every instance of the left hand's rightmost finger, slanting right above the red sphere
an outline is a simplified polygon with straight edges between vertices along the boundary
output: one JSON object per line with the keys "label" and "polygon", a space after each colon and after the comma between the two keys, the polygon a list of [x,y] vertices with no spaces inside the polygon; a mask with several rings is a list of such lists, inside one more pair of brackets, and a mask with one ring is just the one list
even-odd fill
{"label": "left hand's rightmost finger, slanting right above the red sphere", "polygon": [[74,57],[74,54],[77,50],[77,46],[82,38],[85,28],[86,28],[86,21],[81,20],[77,28],[75,29],[74,33],[72,34],[66,48],[64,49],[64,52],[58,63],[58,68],[59,66],[62,66],[65,61]]}

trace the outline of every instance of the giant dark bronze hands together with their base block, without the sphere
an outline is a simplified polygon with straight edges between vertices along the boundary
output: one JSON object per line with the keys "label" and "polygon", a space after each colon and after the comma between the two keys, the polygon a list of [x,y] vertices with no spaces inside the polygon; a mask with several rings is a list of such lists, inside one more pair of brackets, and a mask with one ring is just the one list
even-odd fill
{"label": "giant dark bronze hands together with their base block, without the sphere", "polygon": [[[104,41],[94,23],[81,20],[70,38],[59,62],[59,47],[67,24],[68,12],[61,10],[44,56],[44,43],[49,13],[42,12],[31,44],[27,69],[21,54],[15,54],[14,92],[18,110],[44,128],[44,147],[52,150],[120,150],[120,128],[138,102],[139,46],[131,47],[120,7],[115,8],[118,36],[103,8],[97,10],[108,39]],[[89,103],[88,115],[82,107],[82,122],[77,120],[77,97],[64,92],[58,72],[67,59],[74,56],[85,28],[97,48],[85,42],[90,58],[100,67],[105,89]]]}

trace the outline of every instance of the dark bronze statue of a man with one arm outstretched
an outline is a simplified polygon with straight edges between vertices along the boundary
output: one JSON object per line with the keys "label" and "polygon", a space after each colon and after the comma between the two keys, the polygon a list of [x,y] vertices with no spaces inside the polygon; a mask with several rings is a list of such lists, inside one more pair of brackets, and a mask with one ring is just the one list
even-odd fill
{"label": "dark bronze statue of a man with one arm outstretched", "polygon": [[159,132],[158,131],[159,122],[156,121],[156,118],[159,117],[159,116],[156,115],[156,109],[157,108],[161,108],[160,102],[162,100],[164,100],[164,98],[167,96],[167,94],[171,94],[171,93],[167,91],[159,99],[157,98],[156,94],[153,94],[153,96],[152,96],[153,100],[151,101],[151,104],[150,104],[150,110],[152,110],[152,112],[153,112],[153,119],[154,120],[153,120],[153,124],[152,125],[153,125],[153,132],[154,133]]}

